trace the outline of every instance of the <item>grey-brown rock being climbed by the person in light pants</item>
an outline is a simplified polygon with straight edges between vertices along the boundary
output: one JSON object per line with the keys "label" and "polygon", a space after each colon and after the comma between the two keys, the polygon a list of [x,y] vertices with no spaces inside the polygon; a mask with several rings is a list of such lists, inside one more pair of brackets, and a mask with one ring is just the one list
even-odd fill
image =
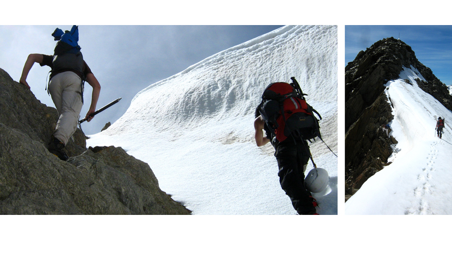
{"label": "grey-brown rock being climbed by the person in light pants", "polygon": [[122,148],[86,149],[77,130],[68,161],[47,150],[58,114],[0,69],[0,214],[190,214],[160,190],[148,164]]}

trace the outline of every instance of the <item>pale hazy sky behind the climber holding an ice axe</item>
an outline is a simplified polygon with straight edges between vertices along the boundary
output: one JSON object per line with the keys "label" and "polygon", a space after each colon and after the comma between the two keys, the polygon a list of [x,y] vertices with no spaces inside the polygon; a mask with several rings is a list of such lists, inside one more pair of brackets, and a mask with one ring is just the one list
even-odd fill
{"label": "pale hazy sky behind the climber holding an ice axe", "polygon": [[[71,25],[0,26],[0,68],[19,82],[24,63],[31,53],[51,55],[56,28]],[[110,109],[83,123],[86,134],[100,132],[106,122],[114,122],[132,98],[149,85],[175,75],[199,61],[281,26],[79,26],[79,45],[84,60],[100,82],[97,109],[122,97]],[[49,67],[35,64],[27,78],[38,100],[53,102],[45,91]],[[85,83],[86,115],[92,89]],[[164,100],[164,99],[161,99]]]}

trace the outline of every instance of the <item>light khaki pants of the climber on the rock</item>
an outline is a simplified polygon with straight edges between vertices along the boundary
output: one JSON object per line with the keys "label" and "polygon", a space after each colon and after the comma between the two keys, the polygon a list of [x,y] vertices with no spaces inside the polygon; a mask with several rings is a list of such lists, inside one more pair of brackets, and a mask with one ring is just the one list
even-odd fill
{"label": "light khaki pants of the climber on the rock", "polygon": [[49,92],[60,116],[53,135],[64,145],[77,130],[83,106],[81,86],[80,77],[70,71],[59,73],[50,80]]}

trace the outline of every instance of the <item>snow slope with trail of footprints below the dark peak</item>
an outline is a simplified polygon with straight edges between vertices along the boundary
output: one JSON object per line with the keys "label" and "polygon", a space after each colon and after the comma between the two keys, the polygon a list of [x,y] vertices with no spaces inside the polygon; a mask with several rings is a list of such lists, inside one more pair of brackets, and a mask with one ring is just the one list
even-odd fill
{"label": "snow slope with trail of footprints below the dark peak", "polygon": [[[452,129],[447,125],[452,113],[422,91],[416,78],[425,81],[410,67],[386,84],[394,115],[390,135],[398,144],[392,163],[346,202],[346,214],[452,214]],[[435,134],[438,117],[445,119],[442,140]]]}

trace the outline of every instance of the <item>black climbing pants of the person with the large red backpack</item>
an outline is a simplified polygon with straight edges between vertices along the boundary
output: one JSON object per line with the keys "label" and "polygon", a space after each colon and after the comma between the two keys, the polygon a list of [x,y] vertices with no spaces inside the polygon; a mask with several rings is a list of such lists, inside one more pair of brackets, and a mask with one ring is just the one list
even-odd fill
{"label": "black climbing pants of the person with the large red backpack", "polygon": [[304,165],[309,161],[309,146],[306,141],[289,136],[276,144],[275,157],[279,167],[281,188],[290,197],[293,208],[298,214],[315,211],[311,193],[304,188]]}

